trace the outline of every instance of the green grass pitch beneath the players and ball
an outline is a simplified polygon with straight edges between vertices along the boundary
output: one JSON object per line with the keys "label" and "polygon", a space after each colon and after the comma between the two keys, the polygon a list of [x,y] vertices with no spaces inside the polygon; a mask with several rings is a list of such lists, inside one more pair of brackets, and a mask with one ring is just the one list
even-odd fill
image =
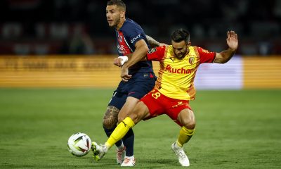
{"label": "green grass pitch beneath the players and ball", "polygon": [[[0,168],[119,168],[115,148],[99,162],[67,151],[85,132],[106,141],[102,118],[112,89],[0,89]],[[281,168],[281,90],[197,91],[190,168]],[[134,127],[134,168],[181,168],[166,115]]]}

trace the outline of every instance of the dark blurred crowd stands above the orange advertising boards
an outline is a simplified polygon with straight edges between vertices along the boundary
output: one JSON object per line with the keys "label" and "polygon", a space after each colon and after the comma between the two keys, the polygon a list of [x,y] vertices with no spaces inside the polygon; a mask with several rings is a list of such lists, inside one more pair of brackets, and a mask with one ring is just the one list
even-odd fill
{"label": "dark blurred crowd stands above the orange advertising boards", "polygon": [[[126,17],[170,43],[173,30],[190,32],[192,45],[226,49],[235,30],[237,54],[281,55],[280,0],[124,0]],[[0,54],[117,54],[106,0],[1,0]]]}

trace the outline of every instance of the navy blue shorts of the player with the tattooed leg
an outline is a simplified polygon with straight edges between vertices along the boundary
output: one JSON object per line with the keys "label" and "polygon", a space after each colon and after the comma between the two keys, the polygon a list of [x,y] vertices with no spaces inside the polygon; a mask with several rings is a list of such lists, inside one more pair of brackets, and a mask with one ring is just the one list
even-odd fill
{"label": "navy blue shorts of the player with the tattooed leg", "polygon": [[154,88],[156,79],[154,73],[136,73],[128,82],[121,81],[108,106],[115,106],[120,110],[128,96],[141,99]]}

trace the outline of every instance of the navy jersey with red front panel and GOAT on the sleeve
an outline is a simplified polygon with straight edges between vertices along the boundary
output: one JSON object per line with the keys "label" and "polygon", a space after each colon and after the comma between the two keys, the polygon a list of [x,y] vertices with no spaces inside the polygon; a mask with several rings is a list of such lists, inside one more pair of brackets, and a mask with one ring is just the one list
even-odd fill
{"label": "navy jersey with red front panel and GOAT on the sleeve", "polygon": [[[119,30],[116,30],[117,50],[119,56],[128,56],[135,51],[135,44],[141,39],[144,39],[148,44],[148,39],[145,37],[145,32],[138,23],[126,18],[124,24]],[[148,44],[148,47],[149,44]],[[139,61],[129,68],[129,75],[136,73],[152,72],[151,61]]]}

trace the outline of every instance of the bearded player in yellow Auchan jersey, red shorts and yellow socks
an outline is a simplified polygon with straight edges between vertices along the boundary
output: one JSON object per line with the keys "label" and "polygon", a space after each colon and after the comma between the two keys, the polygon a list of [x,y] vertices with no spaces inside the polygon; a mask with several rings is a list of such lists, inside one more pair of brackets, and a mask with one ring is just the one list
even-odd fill
{"label": "bearded player in yellow Auchan jersey, red shorts and yellow socks", "polygon": [[195,115],[189,105],[189,101],[195,99],[195,74],[201,63],[228,62],[238,47],[238,38],[234,31],[227,32],[226,43],[228,49],[219,53],[210,52],[190,46],[189,32],[176,30],[171,35],[170,46],[150,49],[147,60],[159,61],[160,64],[155,89],[143,96],[128,117],[119,120],[119,125],[105,144],[98,145],[93,142],[96,160],[100,160],[139,121],[166,114],[181,126],[178,139],[171,144],[171,149],[182,166],[189,166],[183,144],[190,140],[195,130]]}

